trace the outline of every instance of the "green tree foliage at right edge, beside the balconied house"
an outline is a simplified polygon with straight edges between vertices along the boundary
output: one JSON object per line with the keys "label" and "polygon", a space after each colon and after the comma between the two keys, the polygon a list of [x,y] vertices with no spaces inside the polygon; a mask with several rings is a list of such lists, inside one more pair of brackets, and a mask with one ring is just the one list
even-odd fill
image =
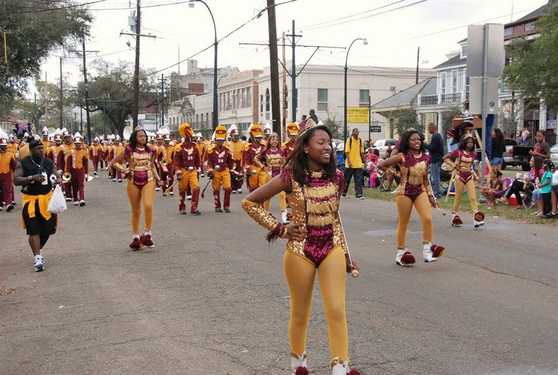
{"label": "green tree foliage at right edge, beside the balconied house", "polygon": [[540,36],[517,38],[507,46],[511,63],[504,68],[509,89],[525,98],[542,98],[549,108],[558,108],[558,6],[535,22]]}

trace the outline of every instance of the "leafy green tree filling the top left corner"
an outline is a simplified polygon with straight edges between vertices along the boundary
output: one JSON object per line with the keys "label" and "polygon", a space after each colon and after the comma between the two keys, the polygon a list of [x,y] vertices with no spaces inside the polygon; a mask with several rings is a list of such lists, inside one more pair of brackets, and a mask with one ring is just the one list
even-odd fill
{"label": "leafy green tree filling the top left corner", "polygon": [[91,20],[89,10],[71,0],[0,1],[0,28],[6,33],[1,45],[8,54],[0,64],[0,114],[8,114],[27,92],[28,79],[38,79],[53,49],[89,35]]}

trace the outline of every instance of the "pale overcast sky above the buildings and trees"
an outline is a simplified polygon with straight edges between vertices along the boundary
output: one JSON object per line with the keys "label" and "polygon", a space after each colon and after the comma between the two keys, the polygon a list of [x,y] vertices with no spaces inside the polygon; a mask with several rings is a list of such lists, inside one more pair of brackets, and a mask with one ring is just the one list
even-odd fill
{"label": "pale overcast sky above the buildings and trees", "polygon": [[[97,2],[95,2],[97,1]],[[266,0],[205,0],[215,17],[218,66],[236,66],[240,70],[269,66],[265,46],[240,43],[268,43],[268,18],[252,20],[266,7]],[[85,1],[84,1],[85,2]],[[178,71],[179,60],[197,59],[200,68],[213,68],[213,23],[204,4],[188,7],[188,0],[142,0],[142,33],[156,38],[141,38],[141,65],[157,68],[169,75]],[[320,45],[310,63],[345,66],[346,49],[355,38],[367,38],[368,45],[355,43],[349,54],[349,66],[416,66],[417,48],[421,48],[421,67],[432,68],[446,60],[445,55],[458,49],[457,42],[467,38],[467,25],[502,23],[520,17],[547,3],[548,0],[276,0],[277,34],[292,33],[295,22],[299,45]],[[135,46],[128,16],[135,10],[135,0],[89,0],[95,17],[92,35],[86,40],[88,55],[107,61],[135,61]],[[251,20],[251,21],[250,21]],[[239,26],[245,24],[238,31]],[[234,32],[233,32],[234,31]],[[233,33],[232,33],[233,32]],[[232,33],[230,36],[227,36]],[[225,38],[225,36],[227,36]],[[286,49],[291,60],[290,40]],[[206,47],[205,52],[199,53]],[[81,45],[77,46],[81,49]],[[306,63],[315,51],[312,47],[296,48],[296,63]],[[48,80],[59,79],[59,57],[53,52],[43,65]],[[279,57],[282,48],[279,47]],[[70,82],[82,80],[82,60],[63,60],[63,71]],[[186,73],[186,62],[180,64]],[[44,79],[44,78],[43,78]],[[31,93],[32,95],[32,93]]]}

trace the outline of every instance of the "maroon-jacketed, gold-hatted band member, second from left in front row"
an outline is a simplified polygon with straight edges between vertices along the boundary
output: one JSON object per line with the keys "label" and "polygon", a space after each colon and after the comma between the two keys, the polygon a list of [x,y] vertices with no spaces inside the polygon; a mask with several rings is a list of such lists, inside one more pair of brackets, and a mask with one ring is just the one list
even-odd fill
{"label": "maroon-jacketed, gold-hatted band member, second from left in front row", "polygon": [[[219,125],[215,130],[215,142],[213,146],[207,148],[207,176],[212,179],[213,199],[215,201],[215,212],[226,213],[230,211],[231,204],[231,175],[232,154],[229,146],[225,145],[227,128]],[[220,188],[223,185],[225,199],[221,208]]]}

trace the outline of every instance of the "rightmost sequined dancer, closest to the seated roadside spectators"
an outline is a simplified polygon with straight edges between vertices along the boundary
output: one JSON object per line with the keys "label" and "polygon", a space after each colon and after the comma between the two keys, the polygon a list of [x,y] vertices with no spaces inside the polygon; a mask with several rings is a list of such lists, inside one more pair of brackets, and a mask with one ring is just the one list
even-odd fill
{"label": "rightmost sequined dancer, closest to the seated roadside spectators", "polygon": [[[456,171],[455,180],[453,182],[455,186],[455,201],[453,202],[453,211],[451,213],[451,225],[453,227],[460,227],[461,224],[463,224],[458,215],[458,211],[464,189],[467,190],[469,202],[471,203],[474,227],[478,228],[484,225],[484,214],[478,211],[476,203],[475,180],[478,176],[473,171],[473,163],[476,160],[476,151],[474,148],[473,137],[465,135],[465,137],[462,137],[460,140],[458,149],[448,153],[442,158],[446,164],[450,167],[454,167]],[[455,163],[450,160],[451,158],[456,158]]]}

